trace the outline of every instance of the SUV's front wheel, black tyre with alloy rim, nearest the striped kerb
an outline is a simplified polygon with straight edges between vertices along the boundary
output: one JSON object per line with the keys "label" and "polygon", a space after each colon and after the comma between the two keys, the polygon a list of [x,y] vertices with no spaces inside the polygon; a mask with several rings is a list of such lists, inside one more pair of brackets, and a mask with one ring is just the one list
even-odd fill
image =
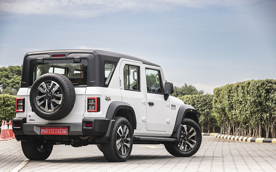
{"label": "SUV's front wheel, black tyre with alloy rim, nearest the striped kerb", "polygon": [[173,156],[190,157],[200,148],[202,141],[201,130],[198,124],[189,118],[184,118],[182,124],[183,129],[180,142],[177,145],[165,145],[165,148]]}

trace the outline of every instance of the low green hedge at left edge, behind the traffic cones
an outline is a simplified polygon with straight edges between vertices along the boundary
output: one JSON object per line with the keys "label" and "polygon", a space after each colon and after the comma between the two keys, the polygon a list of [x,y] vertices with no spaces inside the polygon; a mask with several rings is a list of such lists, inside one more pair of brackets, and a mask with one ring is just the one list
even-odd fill
{"label": "low green hedge at left edge, behind the traffic cones", "polygon": [[15,95],[0,94],[0,121],[15,118]]}

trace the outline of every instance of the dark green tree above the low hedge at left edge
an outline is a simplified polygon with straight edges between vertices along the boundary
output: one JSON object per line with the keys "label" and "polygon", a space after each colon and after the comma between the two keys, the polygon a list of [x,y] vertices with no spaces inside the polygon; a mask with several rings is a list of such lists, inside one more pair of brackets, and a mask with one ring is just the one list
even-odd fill
{"label": "dark green tree above the low hedge at left edge", "polygon": [[21,83],[21,66],[0,68],[0,93],[16,95]]}

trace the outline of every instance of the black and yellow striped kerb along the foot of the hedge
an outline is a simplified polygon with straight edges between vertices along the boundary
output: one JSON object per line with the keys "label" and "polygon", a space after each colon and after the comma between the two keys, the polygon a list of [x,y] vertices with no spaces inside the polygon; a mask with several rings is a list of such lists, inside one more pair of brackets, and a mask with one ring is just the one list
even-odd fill
{"label": "black and yellow striped kerb along the foot of the hedge", "polygon": [[214,135],[214,138],[223,138],[227,140],[247,141],[256,143],[276,143],[276,138],[244,137],[224,134],[216,134]]}

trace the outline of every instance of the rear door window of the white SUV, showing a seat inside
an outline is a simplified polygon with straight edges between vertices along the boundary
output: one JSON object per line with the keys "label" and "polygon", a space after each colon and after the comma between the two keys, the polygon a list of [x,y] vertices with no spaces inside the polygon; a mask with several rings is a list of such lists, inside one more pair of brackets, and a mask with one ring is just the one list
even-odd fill
{"label": "rear door window of the white SUV, showing a seat inside", "polygon": [[124,89],[140,90],[140,71],[139,67],[125,65],[124,66]]}

